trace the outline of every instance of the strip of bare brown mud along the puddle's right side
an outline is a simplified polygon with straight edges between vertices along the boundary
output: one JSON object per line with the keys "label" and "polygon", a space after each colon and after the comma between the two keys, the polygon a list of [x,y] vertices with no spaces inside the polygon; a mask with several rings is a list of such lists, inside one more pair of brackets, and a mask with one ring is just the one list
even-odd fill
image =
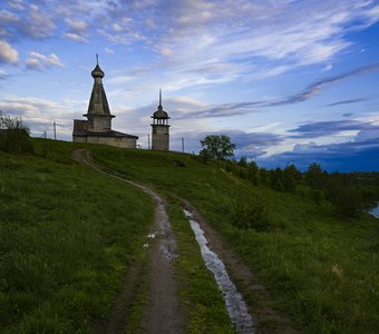
{"label": "strip of bare brown mud along the puddle's right side", "polygon": [[[261,285],[254,273],[241,262],[241,259],[227,247],[225,247],[221,235],[208,226],[200,213],[186,200],[183,207],[192,213],[193,217],[201,225],[208,240],[208,247],[214,250],[223,261],[239,291],[245,296],[249,312],[254,320],[256,334],[298,334],[291,321],[275,312],[265,287]],[[256,302],[249,303],[246,295],[252,296]]]}

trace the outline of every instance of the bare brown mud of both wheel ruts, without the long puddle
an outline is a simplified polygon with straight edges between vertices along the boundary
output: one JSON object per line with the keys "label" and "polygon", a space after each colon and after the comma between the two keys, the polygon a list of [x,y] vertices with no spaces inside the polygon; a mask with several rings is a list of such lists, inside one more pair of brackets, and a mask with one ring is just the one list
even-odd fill
{"label": "bare brown mud of both wheel ruts, without the long puddle", "polygon": [[[173,266],[173,262],[177,257],[176,239],[171,229],[164,199],[146,186],[127,180],[113,170],[103,169],[93,161],[89,151],[86,149],[75,150],[74,159],[100,173],[128,183],[155,199],[155,219],[148,235],[150,262],[149,288],[137,333],[185,333],[185,320],[184,314],[179,310]],[[222,258],[239,291],[245,297],[249,296],[249,298],[255,301],[253,304],[250,303],[247,305],[249,313],[253,317],[253,333],[298,334],[299,332],[294,328],[291,321],[274,311],[269,293],[257,282],[254,273],[242,263],[239,256],[225,246],[220,234],[206,224],[200,213],[188,202],[184,199],[181,202],[182,207],[188,210],[201,225],[208,240],[210,248]],[[97,324],[98,333],[124,333],[128,320],[128,305],[136,295],[136,287],[139,284],[140,277],[146,276],[146,268],[138,265],[130,268],[125,279],[123,292],[116,298],[107,318]]]}

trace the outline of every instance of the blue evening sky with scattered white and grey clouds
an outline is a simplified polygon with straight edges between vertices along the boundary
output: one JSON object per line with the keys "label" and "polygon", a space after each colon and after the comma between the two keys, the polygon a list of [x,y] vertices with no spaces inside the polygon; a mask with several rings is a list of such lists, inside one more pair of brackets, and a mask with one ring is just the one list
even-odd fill
{"label": "blue evening sky with scattered white and grey clouds", "polygon": [[265,168],[379,170],[379,0],[0,0],[0,110],[71,140],[99,66],[113,128],[147,148],[227,135]]}

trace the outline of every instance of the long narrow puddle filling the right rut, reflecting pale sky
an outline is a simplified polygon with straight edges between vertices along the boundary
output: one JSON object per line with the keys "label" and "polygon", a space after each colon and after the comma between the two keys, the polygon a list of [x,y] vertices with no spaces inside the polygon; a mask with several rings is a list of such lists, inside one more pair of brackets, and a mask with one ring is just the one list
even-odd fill
{"label": "long narrow puddle filling the right rut, reflecting pale sky", "polygon": [[204,232],[198,223],[193,218],[193,215],[186,209],[183,209],[183,212],[188,218],[196,240],[201,247],[204,263],[206,267],[213,273],[218,287],[223,292],[226,311],[232,323],[234,324],[236,333],[254,333],[253,320],[249,314],[247,306],[243,301],[242,295],[237,292],[235,285],[229,277],[224,263],[221,261],[217,254],[208,248]]}

